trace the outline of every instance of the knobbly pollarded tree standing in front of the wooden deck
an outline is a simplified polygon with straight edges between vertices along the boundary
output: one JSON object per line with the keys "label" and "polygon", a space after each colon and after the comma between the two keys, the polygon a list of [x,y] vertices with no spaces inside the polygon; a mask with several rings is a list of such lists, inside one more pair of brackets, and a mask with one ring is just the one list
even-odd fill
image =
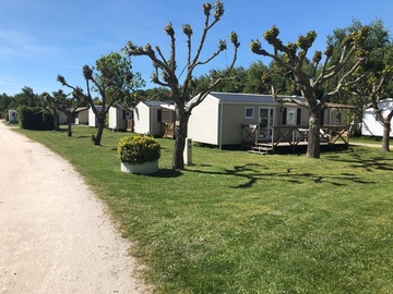
{"label": "knobbly pollarded tree standing in front of the wooden deck", "polygon": [[[359,77],[355,77],[355,70],[364,62],[365,57],[359,52],[359,46],[365,40],[367,29],[362,28],[359,32],[354,32],[346,36],[343,41],[343,49],[340,54],[340,59],[334,64],[330,64],[331,58],[334,53],[334,47],[327,45],[324,52],[324,61],[322,61],[322,52],[315,51],[312,58],[312,71],[309,73],[307,70],[307,54],[312,47],[317,38],[317,33],[311,30],[306,36],[299,36],[296,44],[289,42],[286,46],[278,38],[279,30],[276,26],[266,30],[263,38],[273,47],[273,53],[262,49],[261,42],[251,40],[251,51],[259,56],[270,57],[274,60],[284,71],[285,74],[289,74],[293,84],[296,86],[296,90],[301,93],[301,96],[306,99],[306,102],[299,102],[295,99],[285,99],[290,102],[302,105],[310,111],[309,118],[309,133],[308,133],[308,147],[307,157],[319,158],[320,157],[320,128],[321,128],[321,113],[325,107],[325,103],[330,101],[332,97],[337,95],[343,86],[353,85],[358,83]],[[356,58],[356,62],[349,68],[345,69],[344,65],[350,61],[352,58]],[[345,70],[345,71],[344,71]],[[322,86],[332,81],[338,74],[341,78],[337,81],[334,89],[327,93],[320,93]],[[278,99],[278,96],[272,84],[272,78],[265,76],[265,83],[272,85],[272,94]],[[320,93],[321,97],[317,94]]]}

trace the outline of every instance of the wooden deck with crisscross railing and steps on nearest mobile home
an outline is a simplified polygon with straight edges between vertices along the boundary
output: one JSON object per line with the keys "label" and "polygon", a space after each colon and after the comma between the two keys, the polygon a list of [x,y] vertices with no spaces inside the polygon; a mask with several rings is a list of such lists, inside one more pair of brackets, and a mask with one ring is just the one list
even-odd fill
{"label": "wooden deck with crisscross railing and steps on nearest mobile home", "polygon": [[[348,146],[349,125],[323,125],[320,132],[321,146],[342,144]],[[271,140],[259,138],[258,125],[242,125],[242,146],[250,152],[269,154],[278,147],[291,147],[295,151],[298,146],[308,145],[308,126],[272,126]]]}

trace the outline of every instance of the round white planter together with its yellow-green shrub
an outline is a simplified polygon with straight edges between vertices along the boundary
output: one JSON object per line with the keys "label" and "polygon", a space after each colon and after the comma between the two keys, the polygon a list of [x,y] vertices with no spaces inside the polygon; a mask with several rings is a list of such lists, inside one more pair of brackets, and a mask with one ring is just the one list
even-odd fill
{"label": "round white planter together with its yellow-green shrub", "polygon": [[120,139],[118,158],[122,172],[150,174],[158,171],[160,146],[145,135],[128,136]]}

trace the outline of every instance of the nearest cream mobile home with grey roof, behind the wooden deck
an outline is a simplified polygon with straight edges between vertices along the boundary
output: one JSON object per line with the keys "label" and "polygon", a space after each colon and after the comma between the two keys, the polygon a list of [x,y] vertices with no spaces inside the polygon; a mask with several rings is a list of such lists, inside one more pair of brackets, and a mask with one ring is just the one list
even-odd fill
{"label": "nearest cream mobile home with grey roof, behind the wooden deck", "polygon": [[[290,98],[303,100],[301,97]],[[324,111],[324,125],[343,124],[344,112],[338,107],[332,106]],[[296,127],[298,131],[305,130],[306,133],[308,123],[307,108],[296,103],[282,105],[271,95],[211,93],[192,110],[188,137],[193,142],[218,147],[240,145],[247,140],[272,142],[284,136],[279,132],[274,133],[274,127],[279,126],[281,131]],[[291,133],[288,132],[287,136],[291,136]]]}

